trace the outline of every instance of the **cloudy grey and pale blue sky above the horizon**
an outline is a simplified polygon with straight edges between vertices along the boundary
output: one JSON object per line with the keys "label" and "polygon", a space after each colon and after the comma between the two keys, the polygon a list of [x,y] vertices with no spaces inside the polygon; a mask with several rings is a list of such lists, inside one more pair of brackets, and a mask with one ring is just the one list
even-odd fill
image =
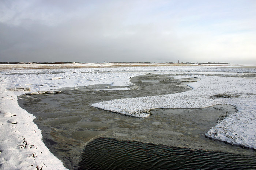
{"label": "cloudy grey and pale blue sky above the horizon", "polygon": [[0,0],[0,62],[256,64],[256,0]]}

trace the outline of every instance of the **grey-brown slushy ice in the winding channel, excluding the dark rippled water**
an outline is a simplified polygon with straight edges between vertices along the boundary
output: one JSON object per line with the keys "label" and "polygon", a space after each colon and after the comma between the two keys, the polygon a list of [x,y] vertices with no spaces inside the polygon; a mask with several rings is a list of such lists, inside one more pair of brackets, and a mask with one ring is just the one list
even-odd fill
{"label": "grey-brown slushy ice in the winding channel, excluding the dark rippled water", "polygon": [[22,96],[24,100],[19,100],[19,105],[36,116],[34,122],[42,130],[46,146],[69,169],[78,168],[84,146],[98,137],[254,156],[252,150],[204,137],[220,116],[236,112],[230,105],[204,109],[155,109],[148,118],[90,107],[90,104],[116,98],[184,92],[190,89],[184,84],[193,81],[196,79],[170,80],[166,75],[148,74],[131,78],[138,87],[135,90],[95,91],[106,89],[106,85],[67,88],[58,94],[37,94],[33,98]]}

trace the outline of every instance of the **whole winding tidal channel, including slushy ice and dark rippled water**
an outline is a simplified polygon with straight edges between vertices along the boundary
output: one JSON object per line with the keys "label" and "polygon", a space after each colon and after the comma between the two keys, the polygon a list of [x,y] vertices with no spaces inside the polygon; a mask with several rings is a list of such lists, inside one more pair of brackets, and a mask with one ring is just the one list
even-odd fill
{"label": "whole winding tidal channel, including slushy ice and dark rippled water", "polygon": [[[147,118],[90,107],[117,98],[185,92],[191,89],[185,84],[194,81],[197,78],[148,74],[131,78],[133,90],[103,90],[106,85],[66,88],[57,94],[19,96],[19,105],[36,116],[44,143],[68,169],[255,169],[253,150],[204,136],[218,119],[236,112],[231,105],[154,109]],[[109,85],[112,88],[120,87]]]}

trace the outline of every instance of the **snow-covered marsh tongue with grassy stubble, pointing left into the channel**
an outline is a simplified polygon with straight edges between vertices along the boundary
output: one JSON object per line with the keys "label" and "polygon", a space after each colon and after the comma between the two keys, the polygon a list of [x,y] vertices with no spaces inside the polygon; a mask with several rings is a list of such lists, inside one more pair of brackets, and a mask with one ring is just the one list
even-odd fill
{"label": "snow-covered marsh tongue with grassy stubble, pointing left into the channel", "polygon": [[[182,76],[184,77],[184,76]],[[176,77],[177,78],[177,77]],[[217,104],[234,105],[238,112],[219,121],[205,135],[230,144],[256,149],[256,81],[253,78],[199,76],[189,84],[191,91],[122,98],[91,106],[135,117],[147,117],[155,108],[205,108]],[[218,94],[227,98],[218,98]]]}

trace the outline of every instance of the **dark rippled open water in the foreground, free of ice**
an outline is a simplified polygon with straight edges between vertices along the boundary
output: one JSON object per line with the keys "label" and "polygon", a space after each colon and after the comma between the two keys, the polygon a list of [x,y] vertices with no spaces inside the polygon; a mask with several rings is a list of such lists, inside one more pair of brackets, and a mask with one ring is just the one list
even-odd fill
{"label": "dark rippled open water in the foreground, free of ice", "polygon": [[205,169],[254,170],[256,157],[136,141],[98,138],[82,154],[79,170]]}

